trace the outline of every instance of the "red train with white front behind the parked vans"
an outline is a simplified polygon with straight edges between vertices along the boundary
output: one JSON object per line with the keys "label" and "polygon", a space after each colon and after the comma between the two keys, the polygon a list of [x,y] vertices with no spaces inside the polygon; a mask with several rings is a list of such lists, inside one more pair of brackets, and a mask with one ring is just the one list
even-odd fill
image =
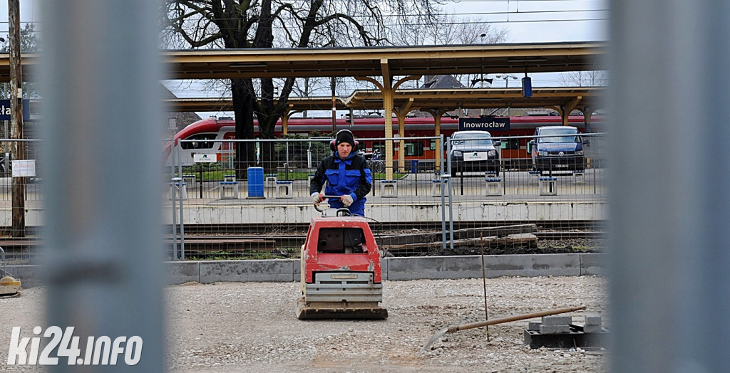
{"label": "red train with white front behind the parked vans", "polygon": [[[596,129],[602,127],[602,117],[593,117],[591,120],[590,132],[597,132]],[[531,136],[534,134],[535,127],[547,125],[561,125],[561,117],[558,116],[525,116],[510,117],[509,130],[490,130],[492,136],[500,137],[502,140],[502,159],[506,162],[510,160],[526,159],[529,154],[526,152],[527,142],[529,138],[506,138],[509,136]],[[180,139],[186,140],[182,143],[181,161],[183,165],[191,165],[193,162],[193,154],[216,154],[218,160],[223,158],[223,154],[231,153],[231,142],[225,140],[234,139],[235,121],[231,118],[207,118],[194,122],[183,128],[174,136],[174,144]],[[393,118],[393,134],[398,134],[398,121]],[[577,127],[580,132],[585,131],[585,122],[583,116],[569,117],[569,125]],[[363,117],[353,119],[338,119],[337,130],[352,130],[356,138],[383,138],[385,137],[385,119],[382,117]],[[434,119],[432,117],[409,117],[404,123],[404,137],[433,137],[434,136]],[[447,138],[454,131],[458,130],[458,119],[450,117],[442,117],[441,133]],[[322,136],[328,136],[332,133],[331,118],[291,118],[288,120],[287,133],[292,135],[308,136],[310,133],[318,131]],[[258,125],[254,122],[254,132],[258,136]],[[283,128],[281,122],[277,123],[275,128],[276,136],[281,136]],[[398,160],[400,149],[394,147],[395,151],[393,159]],[[384,153],[385,141],[360,141],[360,149],[372,151],[379,149],[381,154]],[[404,156],[408,160],[422,160],[424,162],[433,161],[437,157],[436,144],[434,140],[407,140],[404,146]],[[445,150],[444,150],[445,152]],[[169,142],[164,148],[164,157],[169,164]]]}

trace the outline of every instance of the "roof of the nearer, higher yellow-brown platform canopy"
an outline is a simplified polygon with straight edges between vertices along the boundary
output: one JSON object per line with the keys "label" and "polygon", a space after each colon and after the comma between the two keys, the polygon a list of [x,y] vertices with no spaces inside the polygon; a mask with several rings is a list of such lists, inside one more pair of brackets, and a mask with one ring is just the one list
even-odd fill
{"label": "roof of the nearer, higher yellow-brown platform canopy", "polygon": [[[606,42],[337,47],[241,50],[163,50],[165,79],[315,76],[524,74],[604,70]],[[38,54],[21,55],[31,80]],[[0,82],[9,81],[9,55],[0,54]]]}

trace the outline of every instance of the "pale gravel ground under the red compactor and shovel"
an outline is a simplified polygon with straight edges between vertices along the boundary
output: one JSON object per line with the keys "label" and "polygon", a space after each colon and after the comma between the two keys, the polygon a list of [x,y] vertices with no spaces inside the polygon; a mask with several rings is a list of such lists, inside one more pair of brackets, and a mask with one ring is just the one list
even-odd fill
{"label": "pale gravel ground under the red compactor and shovel", "polygon": [[[490,318],[587,305],[605,313],[601,277],[487,279]],[[447,326],[483,321],[483,280],[384,283],[386,321],[299,321],[299,283],[188,283],[167,288],[172,372],[606,372],[606,351],[531,350],[522,345],[528,321],[446,334]],[[42,325],[45,289],[0,299],[0,372],[7,366],[10,326]],[[569,314],[583,322],[583,312]],[[533,319],[531,321],[537,321]],[[9,321],[9,322],[7,322]]]}

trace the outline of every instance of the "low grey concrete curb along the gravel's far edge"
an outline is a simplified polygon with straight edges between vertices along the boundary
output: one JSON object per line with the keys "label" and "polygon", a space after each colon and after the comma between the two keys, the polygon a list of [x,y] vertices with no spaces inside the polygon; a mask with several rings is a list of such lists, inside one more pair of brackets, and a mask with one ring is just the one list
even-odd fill
{"label": "low grey concrete curb along the gravel's far edge", "polygon": [[[484,256],[488,278],[502,276],[606,275],[606,254],[535,254]],[[299,281],[299,259],[165,262],[167,282]],[[42,285],[39,265],[7,266],[23,288]],[[470,256],[420,256],[383,259],[383,280],[481,278],[482,259]]]}

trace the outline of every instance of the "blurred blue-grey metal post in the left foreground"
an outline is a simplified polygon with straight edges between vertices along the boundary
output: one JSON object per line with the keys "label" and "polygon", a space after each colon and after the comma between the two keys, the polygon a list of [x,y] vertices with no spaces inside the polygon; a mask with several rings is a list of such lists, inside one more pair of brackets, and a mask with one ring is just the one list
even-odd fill
{"label": "blurred blue-grey metal post in the left foreground", "polygon": [[[93,370],[163,372],[159,4],[42,8],[47,325],[74,326],[80,348],[142,339],[137,365]],[[66,360],[49,370],[78,369]]]}

